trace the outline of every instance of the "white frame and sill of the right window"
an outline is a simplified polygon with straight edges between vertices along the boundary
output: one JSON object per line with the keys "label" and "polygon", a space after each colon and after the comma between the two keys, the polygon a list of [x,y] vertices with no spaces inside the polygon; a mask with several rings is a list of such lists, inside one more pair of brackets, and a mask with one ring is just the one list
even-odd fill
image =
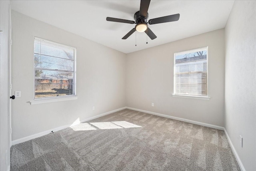
{"label": "white frame and sill of the right window", "polygon": [[[206,61],[207,61],[207,95],[206,96],[199,96],[199,95],[191,95],[191,94],[177,94],[175,93],[175,68],[176,68],[176,61],[175,61],[175,56],[177,55],[181,55],[181,54],[188,54],[188,53],[194,53],[194,52],[198,52],[200,50],[204,50],[206,49],[207,50],[207,58],[206,58]],[[189,63],[189,62],[188,62]],[[208,46],[206,47],[202,47],[202,48],[196,48],[196,49],[191,49],[191,50],[184,50],[184,51],[181,51],[181,52],[176,52],[174,53],[174,73],[173,73],[173,93],[172,93],[172,97],[181,97],[181,98],[188,98],[188,99],[201,99],[201,100],[210,100],[210,97],[209,97],[209,89],[208,89],[208,71],[209,71],[209,68],[208,68]]]}

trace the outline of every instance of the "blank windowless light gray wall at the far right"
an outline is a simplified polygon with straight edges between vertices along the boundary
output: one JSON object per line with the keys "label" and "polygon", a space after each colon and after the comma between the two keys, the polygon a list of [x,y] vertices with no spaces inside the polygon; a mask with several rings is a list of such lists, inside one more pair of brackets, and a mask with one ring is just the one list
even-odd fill
{"label": "blank windowless light gray wall at the far right", "polygon": [[255,8],[255,1],[235,1],[225,28],[225,127],[247,171],[256,170]]}

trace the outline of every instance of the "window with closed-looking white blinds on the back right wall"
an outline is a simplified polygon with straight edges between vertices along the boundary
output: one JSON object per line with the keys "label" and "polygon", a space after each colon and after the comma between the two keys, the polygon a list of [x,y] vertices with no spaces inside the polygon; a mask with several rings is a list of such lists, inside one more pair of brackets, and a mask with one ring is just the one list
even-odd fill
{"label": "window with closed-looking white blinds on the back right wall", "polygon": [[208,47],[174,54],[174,94],[208,96]]}

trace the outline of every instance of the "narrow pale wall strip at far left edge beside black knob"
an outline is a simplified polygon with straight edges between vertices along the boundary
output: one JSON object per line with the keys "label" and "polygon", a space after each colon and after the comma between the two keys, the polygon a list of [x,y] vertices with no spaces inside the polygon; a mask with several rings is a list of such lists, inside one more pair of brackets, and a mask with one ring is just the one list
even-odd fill
{"label": "narrow pale wall strip at far left edge beside black knob", "polygon": [[[0,1],[0,170],[10,168],[10,118],[9,118],[9,42],[10,1]],[[7,153],[6,153],[7,152]],[[7,155],[7,156],[6,156]],[[6,161],[7,159],[7,161]]]}

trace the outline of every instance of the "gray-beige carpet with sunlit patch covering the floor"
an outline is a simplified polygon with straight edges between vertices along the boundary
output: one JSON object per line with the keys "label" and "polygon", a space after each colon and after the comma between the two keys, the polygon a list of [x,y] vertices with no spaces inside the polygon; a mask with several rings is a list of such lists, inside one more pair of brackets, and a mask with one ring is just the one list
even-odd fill
{"label": "gray-beige carpet with sunlit patch covering the floor", "polygon": [[12,171],[237,171],[224,131],[124,109],[11,147]]}

